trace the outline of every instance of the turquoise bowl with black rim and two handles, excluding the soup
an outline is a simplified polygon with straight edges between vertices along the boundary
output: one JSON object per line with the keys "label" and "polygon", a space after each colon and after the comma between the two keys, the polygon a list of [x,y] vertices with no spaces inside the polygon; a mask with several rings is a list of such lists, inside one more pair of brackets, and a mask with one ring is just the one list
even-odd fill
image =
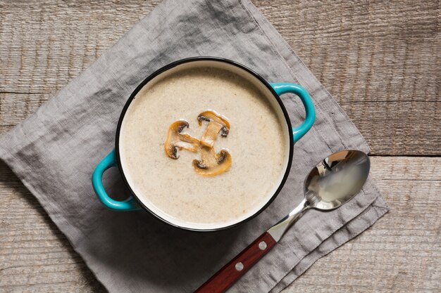
{"label": "turquoise bowl with black rim and two handles, excluding the soup", "polygon": [[[135,210],[139,210],[139,209],[145,209],[145,210],[151,212],[151,214],[154,214],[144,204],[142,204],[142,202],[140,200],[137,199],[137,196],[135,195],[135,193],[133,193],[132,188],[128,184],[128,181],[125,180],[123,170],[120,168],[120,159],[119,159],[119,152],[118,152],[120,126],[123,122],[123,117],[125,115],[126,110],[128,109],[128,106],[130,105],[131,101],[136,96],[138,91],[140,91],[142,89],[142,87],[144,87],[144,85],[147,84],[147,82],[149,82],[151,79],[153,79],[157,75],[161,74],[162,72],[169,70],[170,68],[181,65],[183,63],[200,61],[200,60],[229,63],[230,65],[235,65],[237,67],[240,67],[240,68],[242,68],[242,70],[245,70],[249,74],[254,75],[254,77],[258,78],[268,89],[271,90],[274,98],[278,100],[278,104],[280,105],[280,108],[282,109],[282,112],[285,115],[287,125],[290,126],[290,128],[292,128],[292,132],[289,134],[289,136],[290,136],[290,158],[289,158],[289,162],[287,164],[287,170],[285,171],[285,176],[284,176],[282,182],[280,183],[278,190],[275,192],[273,197],[271,197],[271,200],[269,200],[268,203],[264,207],[262,207],[261,210],[259,210],[258,212],[256,212],[256,214],[254,214],[253,216],[250,216],[248,219],[246,219],[244,221],[248,221],[249,219],[252,219],[254,216],[256,216],[261,211],[263,211],[263,209],[268,207],[268,205],[274,200],[274,198],[280,192],[282,186],[284,185],[284,183],[287,179],[289,171],[290,171],[290,167],[291,167],[291,163],[292,163],[292,150],[294,147],[294,143],[297,143],[297,141],[299,141],[299,139],[302,138],[309,131],[309,129],[311,129],[311,127],[313,126],[313,123],[316,119],[316,111],[314,110],[313,102],[311,100],[311,97],[309,96],[309,93],[306,91],[306,89],[304,89],[302,86],[299,86],[298,84],[291,84],[291,83],[287,83],[287,82],[269,84],[268,82],[266,82],[265,79],[263,79],[263,77],[261,77],[256,72],[250,70],[248,67],[245,67],[244,65],[240,65],[239,63],[235,63],[232,60],[228,60],[225,58],[216,58],[216,57],[194,57],[194,58],[186,58],[186,59],[178,60],[174,63],[170,63],[169,65],[166,65],[165,67],[162,67],[160,70],[157,70],[156,72],[151,74],[149,77],[147,77],[147,79],[145,79],[144,82],[142,82],[142,84],[139,84],[137,89],[135,89],[135,91],[132,93],[132,95],[128,99],[128,102],[125,104],[123,112],[121,113],[121,116],[120,116],[120,120],[118,122],[118,127],[117,127],[117,131],[116,131],[116,148],[114,150],[112,150],[110,153],[108,153],[108,155],[106,155],[106,157],[104,157],[104,159],[102,159],[101,162],[99,162],[99,164],[97,165],[96,169],[94,170],[94,172],[92,174],[92,185],[93,185],[94,191],[97,194],[99,200],[104,204],[104,206],[106,206],[109,209],[112,209],[114,211],[135,211]],[[280,100],[280,96],[285,93],[294,93],[296,96],[298,96],[300,98],[300,100],[302,100],[306,115],[305,115],[304,122],[302,124],[300,124],[299,126],[291,127],[290,118],[287,114],[285,106],[282,103],[282,100]],[[128,186],[129,190],[132,192],[132,195],[130,195],[126,200],[123,200],[123,201],[113,200],[110,196],[108,196],[108,194],[106,193],[106,190],[104,189],[104,186],[102,184],[102,177],[103,177],[104,172],[111,167],[118,167],[118,169],[120,170],[121,176],[123,177],[123,180],[125,181],[125,184]],[[154,214],[154,216],[161,219],[156,214]],[[170,223],[164,219],[161,219],[161,220],[166,223],[169,223],[170,225],[177,226],[178,228],[184,228],[187,230],[197,230],[197,229],[192,229],[192,228],[181,227],[181,226],[176,225],[175,223]],[[242,222],[240,222],[240,223],[242,223]],[[235,225],[232,225],[232,226],[236,226],[237,224],[239,224],[239,223],[236,223]],[[229,228],[229,227],[231,227],[231,226],[218,228],[218,229],[212,229],[212,230],[221,230],[221,229]]]}

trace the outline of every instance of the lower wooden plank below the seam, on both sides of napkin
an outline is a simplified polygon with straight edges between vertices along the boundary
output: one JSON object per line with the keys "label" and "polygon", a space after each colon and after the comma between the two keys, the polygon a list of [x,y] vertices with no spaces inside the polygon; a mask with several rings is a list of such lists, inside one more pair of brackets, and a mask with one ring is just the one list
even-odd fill
{"label": "lower wooden plank below the seam, on both sides of napkin", "polygon": [[[441,158],[371,159],[390,212],[285,293],[440,291]],[[4,163],[0,190],[0,292],[104,292]]]}

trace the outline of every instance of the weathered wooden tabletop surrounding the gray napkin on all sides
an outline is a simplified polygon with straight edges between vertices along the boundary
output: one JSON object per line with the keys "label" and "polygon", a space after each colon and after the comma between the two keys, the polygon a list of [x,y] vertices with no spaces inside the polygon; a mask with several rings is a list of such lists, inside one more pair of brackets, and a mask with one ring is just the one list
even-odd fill
{"label": "weathered wooden tabletop surrounding the gray napkin on all sides", "polygon": [[[15,2],[0,1],[1,133],[157,4]],[[364,134],[372,176],[391,208],[285,292],[440,292],[440,2],[254,4]],[[0,292],[104,292],[4,163],[0,206]]]}

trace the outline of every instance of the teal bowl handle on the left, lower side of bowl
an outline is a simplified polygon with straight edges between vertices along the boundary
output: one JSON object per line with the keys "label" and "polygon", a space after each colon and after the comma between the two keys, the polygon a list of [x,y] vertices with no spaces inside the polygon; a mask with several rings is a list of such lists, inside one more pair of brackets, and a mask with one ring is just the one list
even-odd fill
{"label": "teal bowl handle on the left, lower side of bowl", "polygon": [[106,207],[115,211],[135,211],[140,209],[139,205],[131,195],[127,200],[123,201],[113,200],[107,195],[102,180],[104,172],[111,167],[117,167],[115,150],[112,150],[101,160],[101,162],[99,162],[97,168],[95,168],[94,174],[92,174],[92,186],[94,187],[99,200],[101,200]]}

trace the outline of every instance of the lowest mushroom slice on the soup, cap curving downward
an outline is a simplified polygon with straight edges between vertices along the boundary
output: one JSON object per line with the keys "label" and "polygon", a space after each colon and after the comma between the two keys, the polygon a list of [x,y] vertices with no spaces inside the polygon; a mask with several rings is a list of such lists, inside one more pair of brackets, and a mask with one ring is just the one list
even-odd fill
{"label": "lowest mushroom slice on the soup, cap curving downward", "polygon": [[215,176],[228,171],[231,167],[231,155],[225,148],[216,154],[214,148],[201,146],[201,160],[193,160],[194,171],[201,176]]}

